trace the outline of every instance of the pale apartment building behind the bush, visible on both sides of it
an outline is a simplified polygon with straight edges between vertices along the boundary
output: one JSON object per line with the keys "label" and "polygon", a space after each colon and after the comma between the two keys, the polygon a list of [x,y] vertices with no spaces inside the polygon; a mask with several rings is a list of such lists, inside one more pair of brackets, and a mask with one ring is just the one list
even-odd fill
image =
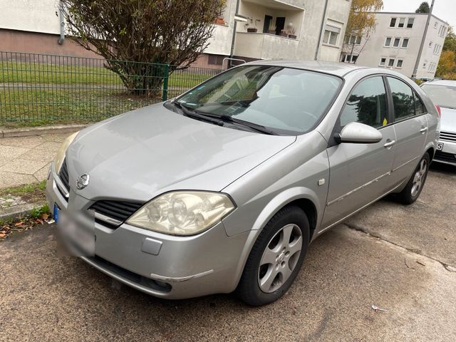
{"label": "pale apartment building behind the bush, visible on both sides of it", "polygon": [[[76,43],[58,43],[58,0],[1,0],[0,51],[94,56]],[[227,0],[214,36],[196,66],[219,68],[231,54],[246,61],[270,58],[338,61],[351,0]],[[234,14],[247,17],[237,22]],[[225,64],[226,66],[226,64]]]}

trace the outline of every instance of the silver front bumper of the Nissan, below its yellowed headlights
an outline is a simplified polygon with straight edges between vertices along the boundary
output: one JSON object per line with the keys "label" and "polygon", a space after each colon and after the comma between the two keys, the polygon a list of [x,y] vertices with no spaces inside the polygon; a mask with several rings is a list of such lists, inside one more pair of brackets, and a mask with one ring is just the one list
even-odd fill
{"label": "silver front bumper of the Nissan, below its yellowed headlights", "polygon": [[[95,227],[95,257],[81,257],[118,281],[153,296],[185,299],[229,293],[240,278],[239,263],[248,232],[228,237],[223,223],[191,237],[177,237],[121,224],[110,229],[90,220],[93,201],[69,191],[68,200],[56,185],[56,171],[46,185],[50,208],[78,217],[78,224]],[[77,214],[77,215],[76,215]]]}

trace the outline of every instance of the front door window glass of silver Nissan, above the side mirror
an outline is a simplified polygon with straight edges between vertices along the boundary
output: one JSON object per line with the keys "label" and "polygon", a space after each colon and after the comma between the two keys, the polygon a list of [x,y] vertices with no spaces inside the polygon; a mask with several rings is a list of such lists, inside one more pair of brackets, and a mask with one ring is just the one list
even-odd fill
{"label": "front door window glass of silver Nissan, above the side mirror", "polygon": [[374,128],[388,124],[385,84],[381,76],[361,81],[353,89],[341,113],[341,127],[353,122]]}

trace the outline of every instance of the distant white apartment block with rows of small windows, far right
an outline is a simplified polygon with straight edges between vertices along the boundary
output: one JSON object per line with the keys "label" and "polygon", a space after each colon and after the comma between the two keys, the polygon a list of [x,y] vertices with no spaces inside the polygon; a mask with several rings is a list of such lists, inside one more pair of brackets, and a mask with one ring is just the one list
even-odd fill
{"label": "distant white apartment block with rows of small windows, far right", "polygon": [[360,66],[392,68],[416,78],[434,78],[449,25],[432,15],[420,54],[427,14],[375,13],[375,30],[363,37],[348,37],[341,61]]}

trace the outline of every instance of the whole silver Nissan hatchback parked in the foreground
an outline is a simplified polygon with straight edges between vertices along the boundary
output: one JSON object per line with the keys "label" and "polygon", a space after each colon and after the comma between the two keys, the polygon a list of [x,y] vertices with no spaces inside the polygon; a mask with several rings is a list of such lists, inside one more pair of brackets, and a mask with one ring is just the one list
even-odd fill
{"label": "whole silver Nissan hatchback parked in the foreground", "polygon": [[438,120],[394,71],[252,62],[71,135],[46,195],[65,242],[118,281],[263,305],[323,232],[390,193],[415,202]]}

